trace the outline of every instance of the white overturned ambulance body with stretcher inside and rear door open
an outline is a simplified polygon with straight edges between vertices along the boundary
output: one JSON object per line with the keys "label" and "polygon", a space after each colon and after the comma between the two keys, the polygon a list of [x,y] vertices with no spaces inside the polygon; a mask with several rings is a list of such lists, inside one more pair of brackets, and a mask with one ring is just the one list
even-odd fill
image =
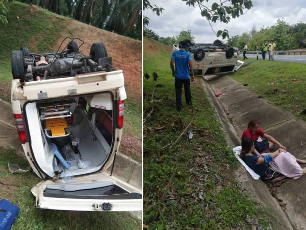
{"label": "white overturned ambulance body with stretcher inside and rear door open", "polygon": [[[11,102],[20,142],[33,171],[43,179],[31,190],[37,208],[142,210],[141,189],[106,171],[119,149],[122,135],[119,120],[123,122],[125,99],[121,70],[23,83],[18,79],[12,81]],[[45,115],[46,108],[50,107],[59,109]],[[54,111],[60,119],[70,114],[73,120],[69,134],[48,137],[46,124]],[[57,145],[58,151],[65,151],[69,169],[52,148],[55,140],[64,140],[67,136],[71,140],[79,138],[79,154],[71,150],[71,142],[61,148]],[[79,160],[87,162],[87,167],[79,167]]]}

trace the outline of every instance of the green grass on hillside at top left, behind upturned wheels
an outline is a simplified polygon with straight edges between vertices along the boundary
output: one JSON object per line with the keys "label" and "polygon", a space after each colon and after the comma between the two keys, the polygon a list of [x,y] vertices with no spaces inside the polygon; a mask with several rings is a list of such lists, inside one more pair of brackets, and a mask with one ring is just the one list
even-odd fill
{"label": "green grass on hillside at top left, behind upturned wheels", "polygon": [[[65,29],[64,17],[55,17],[47,10],[31,11],[27,4],[12,2],[8,4],[9,23],[0,24],[0,80],[10,82],[11,52],[19,50],[22,44],[35,47],[35,51],[52,50],[53,45]],[[33,52],[33,51],[32,51]]]}

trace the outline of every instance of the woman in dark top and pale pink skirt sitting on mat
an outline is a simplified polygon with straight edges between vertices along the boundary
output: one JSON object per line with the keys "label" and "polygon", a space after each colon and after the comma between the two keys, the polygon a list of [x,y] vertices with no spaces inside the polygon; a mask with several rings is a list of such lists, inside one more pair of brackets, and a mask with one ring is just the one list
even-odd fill
{"label": "woman in dark top and pale pink skirt sitting on mat", "polygon": [[263,153],[259,156],[254,153],[254,143],[248,137],[242,139],[241,147],[240,158],[263,179],[271,178],[269,168],[293,179],[306,173],[306,168],[302,169],[299,165],[306,164],[306,160],[295,158],[285,149],[277,149],[273,153]]}

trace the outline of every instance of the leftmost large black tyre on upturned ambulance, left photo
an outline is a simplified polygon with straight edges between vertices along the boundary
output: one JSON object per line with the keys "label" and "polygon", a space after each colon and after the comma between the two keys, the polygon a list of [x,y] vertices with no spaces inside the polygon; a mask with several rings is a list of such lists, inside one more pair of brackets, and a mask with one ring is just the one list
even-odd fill
{"label": "leftmost large black tyre on upturned ambulance, left photo", "polygon": [[13,79],[24,80],[24,55],[21,50],[12,52],[12,74]]}

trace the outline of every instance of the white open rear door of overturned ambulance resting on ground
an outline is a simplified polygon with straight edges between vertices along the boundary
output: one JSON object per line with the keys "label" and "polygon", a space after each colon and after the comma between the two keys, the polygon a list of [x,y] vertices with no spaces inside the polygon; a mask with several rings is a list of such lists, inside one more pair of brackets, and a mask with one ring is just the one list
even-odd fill
{"label": "white open rear door of overturned ambulance resting on ground", "polygon": [[31,192],[40,209],[72,211],[139,211],[142,210],[141,190],[129,183],[99,172],[62,180],[41,181]]}

